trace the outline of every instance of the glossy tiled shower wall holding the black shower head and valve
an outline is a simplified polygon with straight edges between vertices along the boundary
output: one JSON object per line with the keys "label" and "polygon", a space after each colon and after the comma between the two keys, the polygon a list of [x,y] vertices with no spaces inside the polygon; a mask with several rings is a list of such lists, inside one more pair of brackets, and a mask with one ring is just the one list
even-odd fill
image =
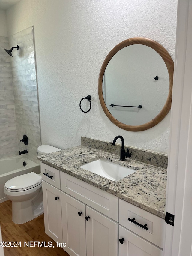
{"label": "glossy tiled shower wall holding the black shower head and valve", "polygon": [[[14,98],[12,98],[12,106],[14,109],[12,119],[14,118],[16,121],[14,128],[17,134],[17,148],[15,148],[15,151],[18,150],[18,147],[19,151],[27,149],[28,154],[25,154],[25,156],[37,162],[36,152],[37,147],[41,145],[41,138],[32,27],[10,36],[8,41],[9,46],[6,46],[7,49],[17,44],[19,45],[19,50],[14,49],[12,51],[13,57],[5,57],[10,61],[11,66],[11,74],[9,71],[9,75],[11,79],[10,82],[12,83],[12,97],[14,96]],[[5,54],[7,53],[5,52]],[[29,139],[28,145],[20,142],[24,134],[26,134]],[[1,138],[2,137],[0,137],[0,140]],[[9,153],[10,152],[7,152],[7,155]],[[13,153],[18,154],[18,151]],[[0,155],[1,158],[4,156],[5,154],[3,156]]]}

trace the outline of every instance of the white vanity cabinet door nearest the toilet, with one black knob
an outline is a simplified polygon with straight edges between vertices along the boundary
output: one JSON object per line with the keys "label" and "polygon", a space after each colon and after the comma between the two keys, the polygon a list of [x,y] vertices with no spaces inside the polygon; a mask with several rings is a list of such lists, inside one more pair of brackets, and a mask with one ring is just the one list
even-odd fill
{"label": "white vanity cabinet door nearest the toilet, with one black knob", "polygon": [[[55,242],[63,242],[61,191],[42,181],[45,233]],[[56,198],[55,198],[56,197]],[[57,200],[56,200],[57,199]]]}

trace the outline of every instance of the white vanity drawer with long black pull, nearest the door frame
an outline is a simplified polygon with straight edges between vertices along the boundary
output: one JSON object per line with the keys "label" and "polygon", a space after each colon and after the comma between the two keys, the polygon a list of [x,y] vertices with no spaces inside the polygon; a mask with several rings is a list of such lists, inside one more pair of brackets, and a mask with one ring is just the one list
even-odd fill
{"label": "white vanity drawer with long black pull, nearest the door frame", "polygon": [[[128,218],[131,220],[135,218],[134,222],[137,223],[129,221]],[[164,219],[119,199],[119,224],[163,248]],[[149,230],[140,227],[138,224],[142,226],[147,224],[146,228],[149,228]]]}

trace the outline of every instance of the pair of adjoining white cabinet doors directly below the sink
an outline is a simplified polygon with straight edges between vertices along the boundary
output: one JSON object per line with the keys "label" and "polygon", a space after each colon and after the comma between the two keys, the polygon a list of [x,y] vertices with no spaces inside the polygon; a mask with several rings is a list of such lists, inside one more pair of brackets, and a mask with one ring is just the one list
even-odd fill
{"label": "pair of adjoining white cabinet doors directly below the sink", "polygon": [[61,192],[64,250],[71,256],[117,256],[119,224]]}

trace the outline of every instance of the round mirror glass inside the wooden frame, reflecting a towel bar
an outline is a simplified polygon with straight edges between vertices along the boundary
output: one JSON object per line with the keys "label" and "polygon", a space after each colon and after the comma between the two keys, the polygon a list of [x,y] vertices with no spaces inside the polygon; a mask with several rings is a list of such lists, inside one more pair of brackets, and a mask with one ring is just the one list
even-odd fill
{"label": "round mirror glass inside the wooden frame, reflecting a towel bar", "polygon": [[164,107],[169,84],[167,66],[158,52],[142,44],[129,45],[119,50],[105,69],[104,102],[119,122],[142,125]]}

